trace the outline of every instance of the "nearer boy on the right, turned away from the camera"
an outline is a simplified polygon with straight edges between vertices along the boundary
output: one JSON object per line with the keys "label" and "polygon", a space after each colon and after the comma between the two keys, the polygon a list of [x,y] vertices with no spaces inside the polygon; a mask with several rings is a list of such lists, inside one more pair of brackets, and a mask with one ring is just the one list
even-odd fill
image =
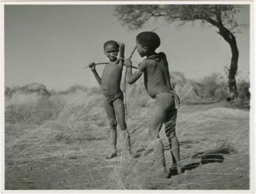
{"label": "nearer boy on the right, turned away from the camera", "polygon": [[159,138],[159,132],[164,124],[173,160],[173,166],[170,169],[172,171],[175,169],[178,174],[181,174],[179,141],[175,133],[177,109],[180,100],[170,85],[168,62],[165,54],[155,53],[156,48],[160,45],[159,36],[154,32],[142,32],[136,37],[136,44],[139,55],[141,57],[146,56],[146,59],[140,63],[134,74],[132,73],[131,60],[125,60],[127,82],[133,84],[144,72],[144,85],[147,93],[156,101],[151,110],[148,133],[156,159],[156,176],[168,178],[170,175],[166,170],[163,144]]}

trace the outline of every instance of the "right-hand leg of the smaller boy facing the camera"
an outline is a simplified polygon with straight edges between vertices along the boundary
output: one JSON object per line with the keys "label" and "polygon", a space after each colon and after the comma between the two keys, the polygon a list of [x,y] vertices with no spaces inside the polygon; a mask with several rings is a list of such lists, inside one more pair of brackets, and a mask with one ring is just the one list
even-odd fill
{"label": "right-hand leg of the smaller boy facing the camera", "polygon": [[130,140],[130,135],[129,135],[129,132],[127,130],[127,126],[125,123],[125,111],[124,111],[123,100],[116,99],[113,104],[114,104],[117,122],[120,127],[121,134],[122,134],[123,148],[124,148],[123,153],[124,153],[124,155],[126,155],[128,157],[132,157],[131,140]]}

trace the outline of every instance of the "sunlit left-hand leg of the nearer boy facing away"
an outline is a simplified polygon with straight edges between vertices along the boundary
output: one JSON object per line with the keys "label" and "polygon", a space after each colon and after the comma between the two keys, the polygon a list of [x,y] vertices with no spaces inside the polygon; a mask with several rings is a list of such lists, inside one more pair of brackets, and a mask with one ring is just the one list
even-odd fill
{"label": "sunlit left-hand leg of the nearer boy facing away", "polygon": [[164,123],[166,112],[166,106],[164,101],[158,101],[152,108],[151,118],[150,118],[150,130],[149,136],[151,143],[153,144],[155,160],[156,160],[156,167],[158,170],[158,177],[166,178],[168,177],[169,173],[166,171],[165,166],[165,159],[164,159],[164,150],[162,141],[159,138],[159,131]]}

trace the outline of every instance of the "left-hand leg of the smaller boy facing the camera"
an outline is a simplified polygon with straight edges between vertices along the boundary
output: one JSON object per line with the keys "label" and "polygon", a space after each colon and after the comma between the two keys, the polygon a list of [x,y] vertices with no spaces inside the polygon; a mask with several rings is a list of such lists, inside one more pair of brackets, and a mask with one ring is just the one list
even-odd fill
{"label": "left-hand leg of the smaller boy facing the camera", "polygon": [[117,121],[116,121],[114,107],[110,103],[108,103],[106,100],[104,100],[104,109],[105,109],[106,115],[108,116],[109,124],[110,124],[110,134],[109,134],[110,135],[110,153],[106,157],[110,159],[117,155],[116,154]]}

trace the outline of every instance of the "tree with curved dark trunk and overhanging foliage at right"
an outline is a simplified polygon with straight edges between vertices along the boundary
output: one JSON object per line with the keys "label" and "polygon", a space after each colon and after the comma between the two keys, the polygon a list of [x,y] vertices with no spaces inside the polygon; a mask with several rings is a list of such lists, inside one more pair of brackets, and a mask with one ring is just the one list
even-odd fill
{"label": "tree with curved dark trunk and overhanging foliage at right", "polygon": [[213,25],[219,29],[219,34],[230,45],[231,63],[228,71],[228,101],[237,98],[236,73],[238,69],[239,51],[234,33],[240,32],[241,27],[236,21],[236,13],[239,5],[118,5],[115,7],[115,16],[123,26],[130,30],[143,27],[144,23],[152,17],[164,17],[168,22],[178,22],[184,25],[186,22],[201,21]]}

